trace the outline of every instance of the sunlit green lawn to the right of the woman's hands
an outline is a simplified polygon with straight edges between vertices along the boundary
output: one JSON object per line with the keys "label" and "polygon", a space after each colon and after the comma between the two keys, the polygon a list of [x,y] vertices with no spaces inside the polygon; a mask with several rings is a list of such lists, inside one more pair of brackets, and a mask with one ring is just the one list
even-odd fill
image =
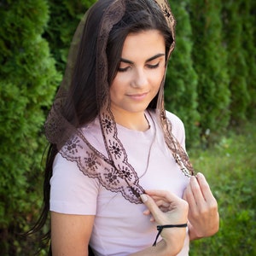
{"label": "sunlit green lawn to the right of the woman's hands", "polygon": [[189,255],[256,255],[255,122],[230,131],[218,144],[191,150],[195,170],[204,173],[218,201],[220,229],[215,236],[191,242]]}

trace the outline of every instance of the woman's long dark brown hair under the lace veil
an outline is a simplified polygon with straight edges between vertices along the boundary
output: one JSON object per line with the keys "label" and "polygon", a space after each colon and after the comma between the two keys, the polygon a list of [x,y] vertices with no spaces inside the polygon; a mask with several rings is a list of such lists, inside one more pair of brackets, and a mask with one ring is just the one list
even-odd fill
{"label": "woman's long dark brown hair under the lace veil", "polygon": [[[67,103],[63,115],[75,127],[79,128],[90,123],[99,113],[102,105],[96,100],[96,42],[99,25],[102,22],[104,10],[113,0],[100,0],[87,12],[78,57],[75,62],[73,77],[67,93]],[[125,38],[129,33],[138,33],[155,29],[161,32],[166,42],[166,60],[168,50],[173,42],[172,33],[166,19],[154,0],[126,0],[125,15],[116,23],[108,37],[108,84],[112,84],[119,67]],[[156,108],[157,96],[149,103],[148,108]],[[44,204],[38,222],[29,234],[41,230],[49,218],[49,180],[52,177],[52,166],[58,149],[55,144],[49,144],[44,169]],[[44,243],[49,242],[49,232],[42,237]],[[49,253],[50,254],[50,253]]]}

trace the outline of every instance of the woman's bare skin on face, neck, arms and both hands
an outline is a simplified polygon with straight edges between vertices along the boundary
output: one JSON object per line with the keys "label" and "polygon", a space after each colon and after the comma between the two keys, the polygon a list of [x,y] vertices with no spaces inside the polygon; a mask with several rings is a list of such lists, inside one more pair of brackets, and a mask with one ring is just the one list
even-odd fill
{"label": "woman's bare skin on face, neck, arms and both hands", "polygon": [[[144,111],[157,94],[166,70],[164,38],[156,30],[129,34],[121,58],[119,71],[110,86],[111,110],[119,125],[145,131],[148,121]],[[189,214],[190,237],[211,236],[216,224],[214,227],[207,227],[207,224],[212,216],[216,217],[216,206],[212,203],[212,192],[206,180],[200,176],[197,180],[195,182],[191,178],[184,200],[165,191],[148,190],[142,198],[148,211],[142,214],[152,214],[151,221],[157,224],[187,223]],[[88,255],[94,219],[92,215],[51,212],[53,255]],[[156,247],[148,247],[132,255],[177,255],[183,247],[185,229],[164,229],[161,237]]]}

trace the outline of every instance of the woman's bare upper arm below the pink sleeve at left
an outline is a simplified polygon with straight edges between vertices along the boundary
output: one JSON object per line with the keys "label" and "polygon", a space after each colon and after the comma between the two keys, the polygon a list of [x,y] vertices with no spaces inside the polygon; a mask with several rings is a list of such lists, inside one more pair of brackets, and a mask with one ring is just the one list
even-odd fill
{"label": "woman's bare upper arm below the pink sleeve at left", "polygon": [[53,256],[87,256],[93,215],[51,212],[51,249]]}

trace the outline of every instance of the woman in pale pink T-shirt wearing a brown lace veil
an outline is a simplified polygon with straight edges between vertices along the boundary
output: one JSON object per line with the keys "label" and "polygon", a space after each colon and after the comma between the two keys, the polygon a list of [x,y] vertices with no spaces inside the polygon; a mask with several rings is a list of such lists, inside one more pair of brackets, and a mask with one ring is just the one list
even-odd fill
{"label": "woman in pale pink T-shirt wearing a brown lace veil", "polygon": [[[183,123],[164,109],[174,25],[168,3],[153,0],[100,0],[79,24],[45,124],[41,224],[50,210],[54,255],[87,255],[89,245],[96,255],[188,255],[189,238],[217,232],[217,203],[205,178],[191,177]],[[186,235],[173,194],[189,204]],[[181,226],[152,247],[155,222]]]}

